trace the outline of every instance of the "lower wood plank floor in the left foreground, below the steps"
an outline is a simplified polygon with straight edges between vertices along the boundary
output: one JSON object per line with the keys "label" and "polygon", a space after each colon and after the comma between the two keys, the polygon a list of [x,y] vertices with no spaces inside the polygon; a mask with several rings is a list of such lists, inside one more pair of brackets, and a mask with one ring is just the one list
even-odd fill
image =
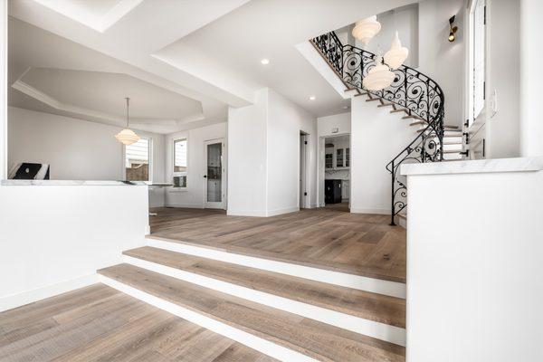
{"label": "lower wood plank floor in the left foreground, below the steps", "polygon": [[0,313],[0,360],[275,361],[103,284]]}

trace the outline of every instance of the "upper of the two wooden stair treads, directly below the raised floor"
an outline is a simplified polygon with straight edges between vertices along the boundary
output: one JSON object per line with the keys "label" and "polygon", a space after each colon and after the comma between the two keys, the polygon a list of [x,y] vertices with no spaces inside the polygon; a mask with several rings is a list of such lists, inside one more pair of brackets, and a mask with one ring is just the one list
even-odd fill
{"label": "upper of the two wooden stair treads, directly below the raised floor", "polygon": [[144,246],[123,252],[133,258],[227,281],[363,319],[405,328],[405,300],[229,262]]}

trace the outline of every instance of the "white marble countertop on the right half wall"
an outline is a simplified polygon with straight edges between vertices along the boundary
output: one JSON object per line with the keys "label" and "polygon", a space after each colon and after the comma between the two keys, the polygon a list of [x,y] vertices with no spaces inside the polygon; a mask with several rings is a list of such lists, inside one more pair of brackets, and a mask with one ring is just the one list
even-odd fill
{"label": "white marble countertop on the right half wall", "polygon": [[543,170],[543,157],[480,159],[473,161],[404,164],[400,173],[414,175],[451,175],[498,172],[533,172]]}

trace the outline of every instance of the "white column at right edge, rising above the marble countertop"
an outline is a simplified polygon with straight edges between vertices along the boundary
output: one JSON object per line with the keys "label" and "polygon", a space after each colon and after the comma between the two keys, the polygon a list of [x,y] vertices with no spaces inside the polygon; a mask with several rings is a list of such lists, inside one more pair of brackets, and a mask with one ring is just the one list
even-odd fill
{"label": "white column at right edge, rising above the marble countertop", "polygon": [[543,88],[539,80],[543,59],[541,14],[543,2],[540,0],[520,1],[520,153],[523,157],[543,155],[540,110]]}

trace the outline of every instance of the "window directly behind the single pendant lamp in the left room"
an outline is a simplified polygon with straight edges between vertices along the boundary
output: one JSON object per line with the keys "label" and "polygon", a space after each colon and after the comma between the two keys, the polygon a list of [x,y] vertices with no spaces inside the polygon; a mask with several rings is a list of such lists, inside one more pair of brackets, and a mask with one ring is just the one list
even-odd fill
{"label": "window directly behind the single pendant lamp in the left room", "polygon": [[125,173],[128,181],[151,181],[151,141],[140,138],[125,148]]}

